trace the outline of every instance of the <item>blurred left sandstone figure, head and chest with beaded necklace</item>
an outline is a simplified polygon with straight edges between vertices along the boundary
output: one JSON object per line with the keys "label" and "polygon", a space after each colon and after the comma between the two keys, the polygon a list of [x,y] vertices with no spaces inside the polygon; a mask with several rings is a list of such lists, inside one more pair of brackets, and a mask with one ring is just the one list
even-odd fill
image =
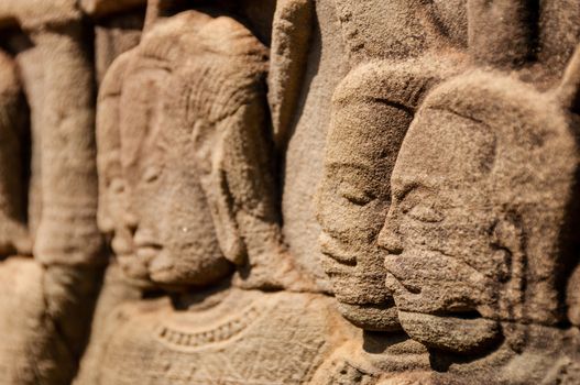
{"label": "blurred left sandstone figure, head and chest with beaded necklace", "polygon": [[266,65],[236,18],[188,10],[107,73],[99,223],[124,274],[163,295],[117,307],[78,384],[304,384],[353,338],[331,298],[292,293],[313,285],[282,242]]}

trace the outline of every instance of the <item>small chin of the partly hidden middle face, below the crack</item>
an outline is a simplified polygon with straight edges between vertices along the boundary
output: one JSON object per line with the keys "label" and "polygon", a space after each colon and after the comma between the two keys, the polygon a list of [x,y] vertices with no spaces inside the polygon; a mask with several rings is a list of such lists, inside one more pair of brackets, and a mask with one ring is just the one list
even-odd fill
{"label": "small chin of the partly hidden middle face, below the crack", "polygon": [[401,330],[394,304],[352,305],[339,302],[338,309],[342,317],[358,328],[369,331]]}

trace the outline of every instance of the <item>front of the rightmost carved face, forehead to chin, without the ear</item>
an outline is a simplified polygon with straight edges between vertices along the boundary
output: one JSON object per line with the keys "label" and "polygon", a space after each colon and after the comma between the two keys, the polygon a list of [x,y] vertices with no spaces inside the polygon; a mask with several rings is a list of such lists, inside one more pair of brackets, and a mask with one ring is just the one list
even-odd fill
{"label": "front of the rightmost carved face, forehead to chin, without the ear", "polygon": [[491,316],[488,305],[506,261],[491,248],[494,221],[484,183],[473,180],[484,166],[477,157],[484,154],[471,143],[486,140],[470,138],[481,132],[468,128],[473,124],[479,123],[448,111],[419,113],[393,170],[381,244],[389,252],[386,286],[405,330],[406,318],[414,328],[445,317],[450,334],[481,328],[469,341],[479,344],[494,337],[495,324],[471,318],[475,311]]}

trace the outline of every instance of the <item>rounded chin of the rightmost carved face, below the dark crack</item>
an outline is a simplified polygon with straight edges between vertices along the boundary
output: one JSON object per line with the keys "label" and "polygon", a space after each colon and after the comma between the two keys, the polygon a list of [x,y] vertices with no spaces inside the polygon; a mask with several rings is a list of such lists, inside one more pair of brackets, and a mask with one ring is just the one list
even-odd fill
{"label": "rounded chin of the rightmost carved face, below the dark crack", "polygon": [[481,351],[500,337],[500,323],[484,318],[434,316],[398,311],[398,319],[407,334],[429,346],[456,353]]}

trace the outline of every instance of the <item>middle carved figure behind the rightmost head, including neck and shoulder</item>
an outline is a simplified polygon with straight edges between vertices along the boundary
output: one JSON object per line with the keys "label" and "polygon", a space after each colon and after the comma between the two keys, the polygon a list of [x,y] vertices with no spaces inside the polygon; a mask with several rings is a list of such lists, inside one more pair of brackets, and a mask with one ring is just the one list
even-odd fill
{"label": "middle carved figure behind the rightmost head, including neck and shoulder", "polygon": [[391,204],[391,173],[415,111],[458,66],[435,57],[370,63],[351,70],[335,91],[316,198],[321,262],[342,316],[365,333],[359,345],[337,354],[328,384],[355,378],[375,384],[385,373],[429,367],[425,346],[402,331],[384,284],[386,253],[377,235]]}

